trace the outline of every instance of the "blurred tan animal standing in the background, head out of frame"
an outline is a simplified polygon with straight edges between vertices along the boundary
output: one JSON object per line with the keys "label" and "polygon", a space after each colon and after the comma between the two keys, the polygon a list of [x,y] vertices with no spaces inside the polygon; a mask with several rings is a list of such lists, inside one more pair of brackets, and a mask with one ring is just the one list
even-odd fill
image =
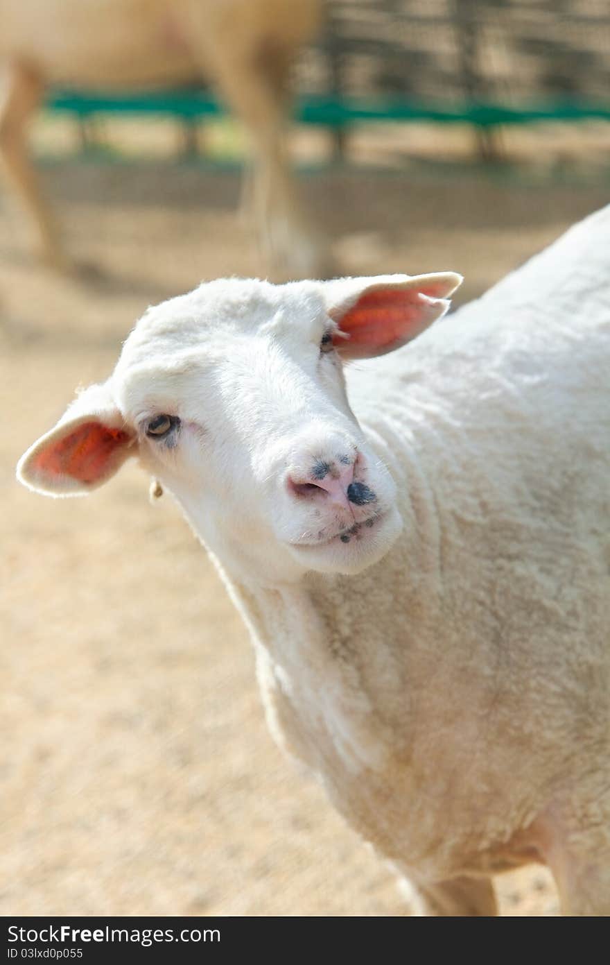
{"label": "blurred tan animal standing in the background, head out of frame", "polygon": [[294,197],[283,126],[288,75],[319,26],[322,0],[0,0],[0,161],[29,212],[44,260],[69,265],[27,150],[27,126],[53,85],[117,90],[207,78],[245,124],[252,204],[274,270],[328,270]]}

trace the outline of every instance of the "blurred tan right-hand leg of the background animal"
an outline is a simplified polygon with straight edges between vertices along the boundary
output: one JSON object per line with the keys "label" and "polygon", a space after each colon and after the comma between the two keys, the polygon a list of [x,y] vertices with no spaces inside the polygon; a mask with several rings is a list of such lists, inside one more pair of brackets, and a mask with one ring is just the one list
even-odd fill
{"label": "blurred tan right-hand leg of the background animal", "polygon": [[230,53],[225,47],[222,54],[211,67],[222,95],[250,136],[249,187],[263,250],[281,279],[327,275],[329,259],[296,200],[285,144],[291,51],[263,44],[257,50]]}

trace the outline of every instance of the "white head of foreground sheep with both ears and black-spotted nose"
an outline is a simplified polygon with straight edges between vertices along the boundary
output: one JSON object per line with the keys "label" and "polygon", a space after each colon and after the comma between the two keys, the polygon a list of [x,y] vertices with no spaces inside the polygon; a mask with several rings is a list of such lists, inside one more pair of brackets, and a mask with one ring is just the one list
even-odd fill
{"label": "white head of foreground sheep with both ears and black-spotted nose", "polygon": [[402,522],[350,409],[343,363],[404,344],[459,281],[202,285],[146,312],[108,382],[79,396],[19,478],[54,495],[86,492],[138,455],[236,576],[356,573]]}

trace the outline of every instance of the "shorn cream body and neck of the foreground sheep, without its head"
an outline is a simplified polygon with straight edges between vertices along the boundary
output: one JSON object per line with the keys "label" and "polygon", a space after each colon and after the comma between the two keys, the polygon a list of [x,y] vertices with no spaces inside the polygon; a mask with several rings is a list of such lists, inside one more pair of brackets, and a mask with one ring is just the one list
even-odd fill
{"label": "shorn cream body and neck of the foreground sheep, without its head", "polygon": [[272,731],[415,880],[548,860],[554,829],[608,855],[609,235],[606,208],[348,369],[402,537],[234,591]]}

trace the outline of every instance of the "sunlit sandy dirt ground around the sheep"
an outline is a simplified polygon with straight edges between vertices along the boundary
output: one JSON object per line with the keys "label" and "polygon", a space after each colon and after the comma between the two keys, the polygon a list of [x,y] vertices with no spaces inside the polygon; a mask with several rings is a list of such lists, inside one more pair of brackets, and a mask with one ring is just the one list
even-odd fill
{"label": "sunlit sandy dirt ground around the sheep", "polygon": [[[170,500],[150,506],[131,465],[83,500],[13,481],[147,304],[260,269],[238,179],[66,161],[44,182],[99,273],[38,267],[0,202],[0,911],[401,915],[384,864],[274,746],[245,630]],[[462,300],[608,200],[421,166],[330,171],[303,192],[346,273],[455,268]],[[557,912],[544,869],[497,885],[504,915]]]}

